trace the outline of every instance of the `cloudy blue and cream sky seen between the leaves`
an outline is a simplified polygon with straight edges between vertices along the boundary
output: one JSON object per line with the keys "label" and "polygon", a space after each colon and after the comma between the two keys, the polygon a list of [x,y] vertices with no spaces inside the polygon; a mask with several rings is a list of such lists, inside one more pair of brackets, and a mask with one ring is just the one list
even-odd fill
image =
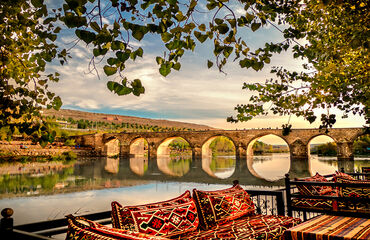
{"label": "cloudy blue and cream sky seen between the leaves", "polygon": [[[238,11],[243,12],[236,12]],[[106,21],[109,22],[109,19]],[[62,30],[58,43],[69,48],[75,39],[72,33]],[[273,27],[254,33],[245,31],[243,34],[251,48],[283,39],[282,34]],[[53,64],[49,68],[49,71],[58,71],[61,74],[60,81],[51,84],[50,89],[62,98],[62,108],[191,122],[222,129],[281,128],[282,124],[288,122],[289,116],[275,115],[256,117],[238,124],[228,123],[226,118],[235,115],[234,107],[237,104],[248,103],[251,93],[242,90],[244,82],[264,82],[271,77],[269,71],[272,66],[301,69],[302,61],[293,59],[289,53],[274,56],[271,64],[265,65],[259,72],[241,69],[238,61],[232,62],[231,57],[224,74],[216,67],[207,68],[207,60],[214,60],[212,42],[207,40],[202,45],[197,42],[194,52],[185,53],[181,59],[180,71],[172,70],[167,77],[163,77],[159,74],[159,66],[155,61],[156,56],[163,56],[164,50],[158,36],[147,35],[142,41],[132,41],[131,44],[141,46],[144,49],[144,57],[126,64],[124,74],[128,79],[141,79],[145,94],[140,97],[117,96],[110,92],[106,82],[114,80],[114,77],[104,76],[104,64],[100,66],[100,78],[88,73],[92,51],[85,44],[79,43],[72,48],[72,59],[67,64]],[[290,123],[293,128],[315,128],[320,125],[319,122],[310,125],[302,118],[296,117],[292,117]],[[337,117],[335,127],[361,127],[364,124],[365,121],[360,117]]]}

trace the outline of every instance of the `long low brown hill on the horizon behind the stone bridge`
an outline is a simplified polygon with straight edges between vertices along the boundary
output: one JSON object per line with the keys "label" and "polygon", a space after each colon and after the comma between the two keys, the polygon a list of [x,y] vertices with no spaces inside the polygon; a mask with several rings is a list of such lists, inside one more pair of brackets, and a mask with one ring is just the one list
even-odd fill
{"label": "long low brown hill on the horizon behind the stone bridge", "polygon": [[176,128],[191,128],[194,130],[212,130],[216,128],[209,127],[207,125],[178,122],[178,121],[169,121],[169,120],[160,120],[160,119],[150,119],[150,118],[140,118],[132,116],[123,116],[117,114],[105,114],[105,113],[91,113],[70,109],[60,109],[56,111],[54,109],[43,110],[42,113],[44,116],[55,116],[56,118],[72,118],[74,120],[89,120],[96,122],[109,122],[109,123],[137,123],[141,125],[152,125],[159,127],[176,127]]}

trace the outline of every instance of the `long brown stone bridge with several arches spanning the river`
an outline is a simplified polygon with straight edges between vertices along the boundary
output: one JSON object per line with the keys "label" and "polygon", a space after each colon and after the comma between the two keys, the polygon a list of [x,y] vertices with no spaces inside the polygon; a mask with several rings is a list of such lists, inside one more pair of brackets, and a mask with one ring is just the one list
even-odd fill
{"label": "long brown stone bridge with several arches spanning the river", "polygon": [[[249,129],[249,130],[208,130],[208,131],[174,131],[174,132],[140,132],[140,133],[105,133],[75,136],[77,144],[92,147],[102,156],[129,156],[142,154],[146,140],[150,159],[157,155],[168,154],[167,146],[175,139],[182,138],[192,149],[193,159],[201,159],[209,154],[209,145],[219,136],[230,139],[234,146],[237,159],[246,159],[253,155],[252,146],[255,141],[266,135],[282,138],[289,146],[291,160],[309,158],[310,141],[321,135],[328,136],[337,144],[337,157],[353,159],[353,142],[365,134],[365,128],[333,128],[328,133],[320,129],[292,129],[284,136],[282,129]],[[140,150],[141,149],[141,150]]]}

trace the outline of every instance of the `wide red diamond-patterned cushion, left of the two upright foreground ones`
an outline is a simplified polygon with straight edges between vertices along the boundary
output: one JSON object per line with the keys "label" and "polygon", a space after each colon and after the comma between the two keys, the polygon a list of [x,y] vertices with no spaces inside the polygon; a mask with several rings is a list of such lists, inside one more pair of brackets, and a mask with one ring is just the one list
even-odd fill
{"label": "wide red diamond-patterned cushion, left of the two upright foreground ones", "polygon": [[171,237],[196,230],[199,218],[190,192],[186,191],[177,198],[146,205],[122,208],[113,202],[112,222],[115,228]]}

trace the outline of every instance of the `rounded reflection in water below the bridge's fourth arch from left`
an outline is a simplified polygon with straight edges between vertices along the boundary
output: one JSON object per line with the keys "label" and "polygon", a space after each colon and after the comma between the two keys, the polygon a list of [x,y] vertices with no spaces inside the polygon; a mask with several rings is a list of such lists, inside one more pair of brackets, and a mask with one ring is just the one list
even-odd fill
{"label": "rounded reflection in water below the bridge's fourth arch from left", "polygon": [[226,179],[235,172],[235,157],[203,155],[202,169],[211,177]]}

